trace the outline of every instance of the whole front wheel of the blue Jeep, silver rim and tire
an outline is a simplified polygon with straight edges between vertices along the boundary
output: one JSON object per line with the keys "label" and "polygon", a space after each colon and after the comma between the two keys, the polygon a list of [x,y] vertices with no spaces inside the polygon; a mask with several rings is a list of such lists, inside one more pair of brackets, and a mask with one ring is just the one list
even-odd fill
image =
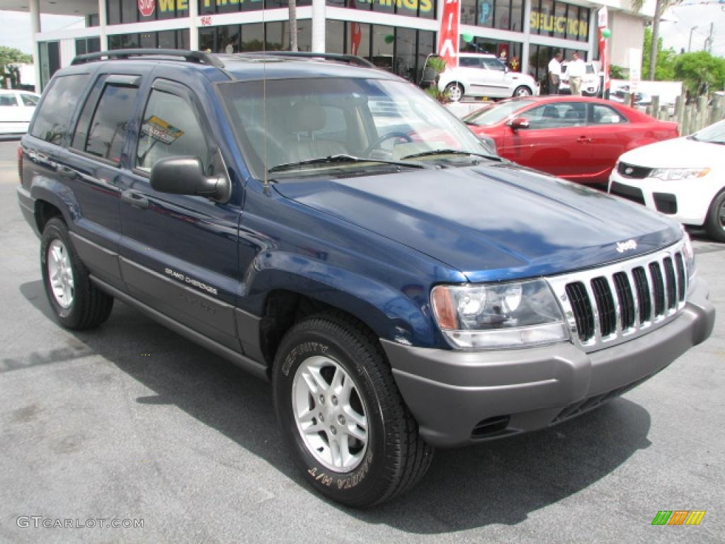
{"label": "whole front wheel of the blue Jeep, silver rim and tire", "polygon": [[373,506],[426,474],[433,450],[377,339],[354,319],[322,314],[293,326],[277,351],[273,388],[283,438],[323,495]]}

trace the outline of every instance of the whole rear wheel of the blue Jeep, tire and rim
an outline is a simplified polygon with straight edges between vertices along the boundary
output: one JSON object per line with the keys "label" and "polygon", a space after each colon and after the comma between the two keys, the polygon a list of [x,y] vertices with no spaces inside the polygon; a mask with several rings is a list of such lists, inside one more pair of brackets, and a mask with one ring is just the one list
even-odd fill
{"label": "whole rear wheel of the blue Jeep, tire and rim", "polygon": [[43,228],[41,269],[55,315],[68,329],[92,329],[108,319],[113,298],[88,279],[88,268],[70,242],[65,223],[51,218]]}

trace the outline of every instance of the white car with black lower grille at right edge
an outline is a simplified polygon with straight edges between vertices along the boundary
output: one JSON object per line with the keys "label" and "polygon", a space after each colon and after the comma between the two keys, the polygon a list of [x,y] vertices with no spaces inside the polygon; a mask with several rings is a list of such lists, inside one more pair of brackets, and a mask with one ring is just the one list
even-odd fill
{"label": "white car with black lower grille at right edge", "polygon": [[725,120],[621,155],[609,192],[725,242]]}

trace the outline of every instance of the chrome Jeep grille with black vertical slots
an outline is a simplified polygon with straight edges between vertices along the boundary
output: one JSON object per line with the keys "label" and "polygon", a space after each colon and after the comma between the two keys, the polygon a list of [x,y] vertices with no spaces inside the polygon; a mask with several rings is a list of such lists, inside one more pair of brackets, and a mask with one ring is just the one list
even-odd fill
{"label": "chrome Jeep grille with black vertical slots", "polygon": [[548,279],[572,337],[590,352],[659,328],[687,297],[684,242],[602,268]]}

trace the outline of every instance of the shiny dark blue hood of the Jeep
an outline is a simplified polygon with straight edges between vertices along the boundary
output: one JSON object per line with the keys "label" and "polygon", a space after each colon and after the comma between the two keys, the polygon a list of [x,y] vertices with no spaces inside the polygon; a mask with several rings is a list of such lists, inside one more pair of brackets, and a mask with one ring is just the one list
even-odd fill
{"label": "shiny dark blue hood of the Jeep", "polygon": [[[682,236],[677,223],[644,206],[509,163],[283,181],[274,188],[434,257],[469,281],[588,268]],[[631,239],[636,249],[617,250]]]}

